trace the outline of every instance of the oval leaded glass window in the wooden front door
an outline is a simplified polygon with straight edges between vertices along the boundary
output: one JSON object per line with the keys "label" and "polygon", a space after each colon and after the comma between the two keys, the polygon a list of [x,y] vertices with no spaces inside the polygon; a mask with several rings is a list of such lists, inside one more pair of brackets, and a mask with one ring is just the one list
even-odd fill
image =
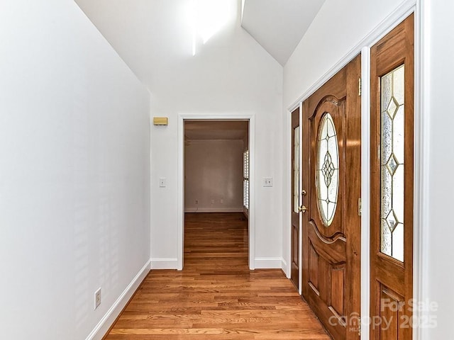
{"label": "oval leaded glass window in the wooden front door", "polygon": [[339,148],[333,117],[325,113],[317,138],[316,186],[321,220],[329,227],[334,219],[339,190]]}

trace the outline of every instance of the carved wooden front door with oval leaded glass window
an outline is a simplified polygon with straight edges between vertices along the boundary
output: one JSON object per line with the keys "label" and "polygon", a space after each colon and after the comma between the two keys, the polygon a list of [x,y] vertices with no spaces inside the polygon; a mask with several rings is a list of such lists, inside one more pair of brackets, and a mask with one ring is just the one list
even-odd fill
{"label": "carved wooden front door with oval leaded glass window", "polygon": [[303,296],[333,339],[359,339],[360,56],[303,103]]}

